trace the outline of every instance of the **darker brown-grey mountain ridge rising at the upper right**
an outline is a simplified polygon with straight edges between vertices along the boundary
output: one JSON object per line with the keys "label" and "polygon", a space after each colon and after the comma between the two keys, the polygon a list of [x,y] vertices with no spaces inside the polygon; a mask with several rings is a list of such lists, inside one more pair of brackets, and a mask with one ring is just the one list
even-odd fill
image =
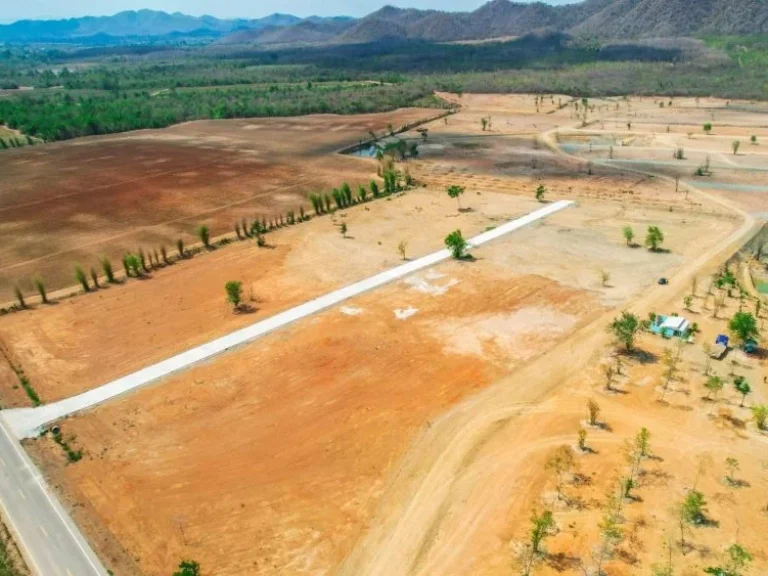
{"label": "darker brown-grey mountain ridge rising at the upper right", "polygon": [[464,13],[386,7],[356,21],[336,40],[449,42],[547,30],[603,39],[768,33],[768,0],[585,0],[563,6],[493,0]]}

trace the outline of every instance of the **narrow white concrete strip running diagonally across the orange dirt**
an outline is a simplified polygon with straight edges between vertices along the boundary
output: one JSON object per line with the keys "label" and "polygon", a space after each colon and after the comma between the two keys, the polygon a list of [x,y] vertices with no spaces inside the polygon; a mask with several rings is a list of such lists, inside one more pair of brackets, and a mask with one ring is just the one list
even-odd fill
{"label": "narrow white concrete strip running diagonally across the orange dirt", "polygon": [[[502,224],[493,230],[475,236],[468,241],[469,248],[471,249],[481,246],[487,242],[501,238],[510,232],[514,232],[528,224],[568,208],[573,204],[574,203],[570,200],[561,200],[559,202],[548,204],[521,218],[517,218],[516,220]],[[448,250],[434,252],[433,254],[407,262],[392,268],[391,270],[386,270],[385,272],[381,272],[380,274],[376,274],[365,280],[355,282],[354,284],[350,284],[349,286],[345,286],[344,288],[340,288],[339,290],[335,290],[324,296],[320,296],[319,298],[315,298],[314,300],[310,300],[309,302],[280,312],[275,316],[256,322],[255,324],[187,350],[186,352],[182,352],[181,354],[177,354],[176,356],[172,356],[171,358],[153,364],[152,366],[142,368],[133,374],[123,376],[122,378],[118,378],[117,380],[93,390],[38,408],[6,410],[2,413],[3,417],[17,437],[28,438],[36,436],[46,424],[70,414],[86,410],[131,392],[132,390],[146,386],[147,384],[151,384],[152,382],[165,378],[180,370],[185,370],[190,366],[199,362],[204,362],[218,354],[231,350],[232,348],[251,342],[265,334],[282,328],[283,326],[292,324],[297,320],[316,314],[331,306],[344,302],[345,300],[359,296],[364,292],[368,292],[395,280],[404,278],[409,274],[413,274],[424,268],[434,266],[439,262],[448,260],[450,257],[451,254]]]}

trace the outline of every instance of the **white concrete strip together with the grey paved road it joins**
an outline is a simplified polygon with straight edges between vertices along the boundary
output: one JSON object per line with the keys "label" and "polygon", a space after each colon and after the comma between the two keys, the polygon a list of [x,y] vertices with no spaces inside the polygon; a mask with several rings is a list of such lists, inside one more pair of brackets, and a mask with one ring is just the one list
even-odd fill
{"label": "white concrete strip together with the grey paved road it joins", "polygon": [[[481,246],[572,205],[571,201],[549,204],[472,238],[469,246]],[[72,398],[38,408],[0,412],[0,506],[33,573],[37,576],[107,575],[87,540],[19,445],[18,438],[35,436],[55,420],[146,386],[450,257],[448,250],[440,250],[407,262]]]}

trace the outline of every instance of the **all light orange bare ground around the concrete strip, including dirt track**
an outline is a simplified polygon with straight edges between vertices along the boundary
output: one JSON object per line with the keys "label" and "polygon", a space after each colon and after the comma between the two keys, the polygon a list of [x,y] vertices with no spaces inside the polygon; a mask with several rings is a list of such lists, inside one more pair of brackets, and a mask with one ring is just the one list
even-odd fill
{"label": "all light orange bare ground around the concrete strip, including dirt track", "polygon": [[[222,575],[509,574],[531,510],[549,507],[557,534],[534,573],[582,574],[605,494],[624,470],[624,441],[642,426],[653,457],[642,463],[606,572],[648,573],[666,558],[665,537],[686,576],[717,564],[736,541],[754,555],[754,573],[768,570],[766,439],[730,383],[732,369],[745,374],[754,390],[747,405],[765,402],[766,358],[735,352],[713,364],[727,387],[717,402],[702,399],[702,344],[739,307],[728,298],[711,317],[708,275],[751,220],[726,191],[686,195],[664,178],[617,173],[605,159],[590,167],[588,149],[553,152],[544,134],[555,128],[563,143],[584,138],[558,97],[539,113],[533,96],[461,101],[461,113],[430,126],[410,163],[426,188],[346,211],[352,238],[317,218],[270,235],[271,250],[237,243],[144,282],[2,319],[0,337],[50,400],[393,266],[400,240],[417,256],[450,230],[470,235],[529,212],[539,184],[547,199],[578,200],[484,246],[473,262],[441,264],[68,419],[65,437],[85,452],[77,463],[49,438],[28,443],[116,573],[160,576],[194,558]],[[633,118],[663,125],[653,99],[633,102]],[[696,103],[686,106],[698,121]],[[484,132],[479,119],[489,115]],[[468,210],[445,196],[449,183],[467,186]],[[622,226],[642,242],[651,224],[669,252],[626,246]],[[697,298],[683,311],[693,275]],[[658,286],[660,276],[671,284]],[[228,310],[230,279],[251,287],[254,313]],[[605,324],[623,307],[699,324],[666,393],[660,359],[671,343],[651,336],[640,340],[644,355],[622,358],[617,390],[605,390],[605,367],[617,362]],[[18,389],[3,394],[26,402]],[[581,475],[567,475],[567,502],[558,500],[544,462],[557,446],[576,445],[589,398],[606,426],[588,428],[594,452],[578,454]],[[727,457],[739,460],[737,484],[723,480]],[[694,485],[711,522],[691,527],[681,549],[669,511]]]}

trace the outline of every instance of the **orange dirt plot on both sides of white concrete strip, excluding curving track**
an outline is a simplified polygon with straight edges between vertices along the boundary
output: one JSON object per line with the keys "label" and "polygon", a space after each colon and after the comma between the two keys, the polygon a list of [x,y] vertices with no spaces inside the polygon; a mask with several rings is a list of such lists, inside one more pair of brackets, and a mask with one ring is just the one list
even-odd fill
{"label": "orange dirt plot on both sides of white concrete strip, excluding curving track", "polygon": [[[318,245],[330,263],[337,260],[330,256],[332,247],[354,243],[360,253],[346,260],[346,266],[363,276],[377,258],[396,263],[397,238],[413,239],[416,253],[423,253],[430,235],[437,247],[438,230],[460,226],[479,231],[502,216],[536,206],[530,199],[498,193],[475,195],[465,203],[474,211],[457,215],[455,204],[444,195],[413,191],[391,202],[371,203],[369,210],[349,210],[346,220],[353,239],[342,239],[329,219],[281,231],[275,242],[286,242],[291,249],[283,248],[287,255],[282,266],[275,262],[269,267],[275,272],[264,285],[279,285],[281,277],[287,282],[318,274]],[[423,209],[431,215],[427,220],[420,217]],[[120,573],[165,574],[181,557],[215,565],[222,574],[328,572],[343,561],[375,515],[387,479],[396,475],[397,463],[424,426],[429,427],[426,423],[536,358],[663,270],[678,266],[689,255],[686,239],[697,231],[711,227],[717,238],[732,227],[727,220],[698,217],[695,226],[670,236],[671,245],[682,253],[655,258],[627,249],[616,234],[619,221],[642,226],[647,218],[672,222],[681,217],[598,204],[563,212],[484,247],[474,263],[446,263],[349,302],[346,314],[334,309],[68,420],[65,435],[74,436],[74,444],[87,452],[75,465],[66,465],[61,449],[48,440],[30,444],[30,449],[46,462],[53,482],[66,487],[78,521]],[[564,235],[570,246],[561,250]],[[302,237],[316,241],[304,244]],[[379,238],[386,248],[379,246]],[[573,261],[574,253],[582,255],[580,261]],[[535,256],[543,254],[548,255],[543,262]],[[130,300],[131,293],[153,284],[159,294],[173,285],[174,275],[192,274],[184,267],[200,274],[205,268],[226,269],[228,258],[248,262],[261,257],[245,243],[226,247],[102,297],[125,292],[121,300]],[[336,266],[324,267],[322,274],[338,274]],[[601,267],[617,279],[609,288],[600,284]],[[239,270],[248,268],[243,263]],[[198,315],[201,325],[208,318],[208,324],[216,321],[223,330],[250,321],[227,311],[222,277],[216,276],[218,283],[205,288],[210,294]],[[276,291],[281,297],[283,293],[290,291]],[[310,297],[306,285],[304,294]],[[63,313],[59,310],[70,306],[73,311],[67,314],[79,310],[87,322],[97,308],[89,311],[86,302],[96,299],[75,298],[61,308],[11,318],[29,323],[37,315],[47,330]],[[206,301],[202,295],[200,300]],[[44,397],[55,394],[58,386],[73,392],[69,382],[95,383],[129,365],[144,365],[147,341],[157,346],[153,354],[180,346],[175,341],[184,329],[179,318],[189,308],[180,306],[177,317],[174,302],[165,304],[167,323],[137,324],[127,331],[130,342],[102,335],[101,357],[127,359],[117,368],[113,362],[93,362],[74,350],[57,349],[39,333],[30,336],[28,346],[35,350],[44,342],[49,353],[42,357],[48,360],[39,362],[39,355],[23,351],[19,357],[29,374],[40,375],[32,381],[45,387]],[[264,306],[266,315],[270,308]],[[409,309],[416,311],[414,316],[396,318],[396,310]],[[79,331],[67,334],[62,340],[72,339],[76,350],[94,345]],[[127,346],[136,352],[126,354]],[[57,373],[66,375],[69,364],[78,365],[68,360],[72,357],[81,358],[79,367],[90,380],[65,376],[59,384],[43,378],[55,371],[53,358],[59,359]],[[212,430],[223,435],[221,440],[211,441]],[[120,513],[115,513],[116,502]],[[227,522],[221,522],[223,517]],[[244,540],[259,544],[242,547]]]}

